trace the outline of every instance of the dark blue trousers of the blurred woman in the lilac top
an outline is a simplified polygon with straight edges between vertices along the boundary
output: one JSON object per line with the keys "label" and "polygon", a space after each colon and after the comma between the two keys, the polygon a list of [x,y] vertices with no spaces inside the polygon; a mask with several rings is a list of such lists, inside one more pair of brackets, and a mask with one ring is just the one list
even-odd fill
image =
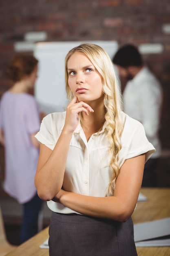
{"label": "dark blue trousers of the blurred woman in the lilac top", "polygon": [[24,243],[37,233],[38,214],[42,208],[42,203],[43,200],[41,200],[36,193],[36,195],[29,202],[23,204],[20,243]]}

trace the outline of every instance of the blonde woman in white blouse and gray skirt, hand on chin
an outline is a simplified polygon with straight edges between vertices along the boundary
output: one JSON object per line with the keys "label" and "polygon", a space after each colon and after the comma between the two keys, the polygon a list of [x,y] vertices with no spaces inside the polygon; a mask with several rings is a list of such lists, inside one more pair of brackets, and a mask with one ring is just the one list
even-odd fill
{"label": "blonde woman in white blouse and gray skirt, hand on chin", "polygon": [[73,48],[65,74],[66,112],[47,115],[36,135],[35,186],[52,210],[49,255],[135,256],[131,215],[155,148],[143,126],[121,111],[104,49]]}

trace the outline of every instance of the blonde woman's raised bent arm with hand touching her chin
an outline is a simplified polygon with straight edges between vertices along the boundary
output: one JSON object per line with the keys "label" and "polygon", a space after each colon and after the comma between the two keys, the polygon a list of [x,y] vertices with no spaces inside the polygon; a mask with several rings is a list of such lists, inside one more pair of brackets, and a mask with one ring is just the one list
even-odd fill
{"label": "blonde woman's raised bent arm with hand touching her chin", "polygon": [[53,199],[62,188],[70,141],[79,121],[79,112],[88,116],[88,112],[94,110],[87,103],[79,102],[77,97],[73,97],[67,106],[64,127],[54,149],[40,145],[35,186],[43,200]]}

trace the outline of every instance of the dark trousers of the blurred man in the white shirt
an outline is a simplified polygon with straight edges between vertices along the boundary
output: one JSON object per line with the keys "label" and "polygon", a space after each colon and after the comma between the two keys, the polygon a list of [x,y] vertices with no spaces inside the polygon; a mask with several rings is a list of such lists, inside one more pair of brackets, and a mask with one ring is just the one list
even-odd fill
{"label": "dark trousers of the blurred man in the white shirt", "polygon": [[155,187],[156,186],[156,168],[159,158],[150,158],[144,168],[144,177],[142,186],[144,187]]}

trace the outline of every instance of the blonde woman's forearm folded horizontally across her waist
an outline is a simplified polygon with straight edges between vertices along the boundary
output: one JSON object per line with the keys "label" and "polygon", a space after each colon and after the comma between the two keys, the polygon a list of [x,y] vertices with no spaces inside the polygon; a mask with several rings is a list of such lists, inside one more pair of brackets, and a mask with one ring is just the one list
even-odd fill
{"label": "blonde woman's forearm folded horizontally across her waist", "polygon": [[[59,199],[60,198],[60,199]],[[81,214],[124,222],[132,215],[136,202],[123,197],[93,197],[61,190],[53,201]]]}

